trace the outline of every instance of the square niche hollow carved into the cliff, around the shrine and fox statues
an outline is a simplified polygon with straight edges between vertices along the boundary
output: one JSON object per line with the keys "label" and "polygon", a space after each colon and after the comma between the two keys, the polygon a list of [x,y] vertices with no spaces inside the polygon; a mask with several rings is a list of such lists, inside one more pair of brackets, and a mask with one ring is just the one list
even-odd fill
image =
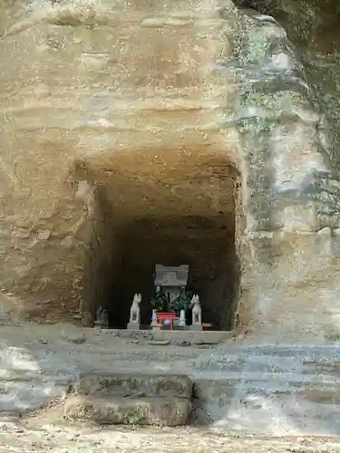
{"label": "square niche hollow carved into the cliff, around the shrine and fox statues", "polygon": [[161,178],[155,178],[154,161],[148,175],[140,168],[132,178],[131,158],[130,171],[116,167],[106,172],[106,181],[92,170],[92,241],[83,294],[92,316],[101,305],[110,328],[126,329],[133,295],[141,293],[141,324],[150,325],[155,265],[189,265],[187,290],[199,294],[202,322],[213,330],[235,327],[239,177],[225,159],[211,160],[193,166],[179,159],[179,171],[172,162],[172,172]]}

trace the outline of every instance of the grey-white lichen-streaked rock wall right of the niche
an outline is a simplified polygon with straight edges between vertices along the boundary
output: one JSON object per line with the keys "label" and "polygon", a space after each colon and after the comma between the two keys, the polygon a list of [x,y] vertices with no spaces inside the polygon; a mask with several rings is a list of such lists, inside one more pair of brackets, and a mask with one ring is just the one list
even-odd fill
{"label": "grey-white lichen-streaked rock wall right of the niche", "polygon": [[249,162],[241,313],[265,337],[327,336],[339,313],[331,131],[285,30],[270,16],[245,14],[236,63],[247,74],[236,120]]}

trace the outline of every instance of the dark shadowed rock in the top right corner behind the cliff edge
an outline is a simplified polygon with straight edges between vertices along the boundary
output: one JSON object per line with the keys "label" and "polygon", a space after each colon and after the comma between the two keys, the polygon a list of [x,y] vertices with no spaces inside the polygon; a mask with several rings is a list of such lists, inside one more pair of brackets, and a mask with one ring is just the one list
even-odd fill
{"label": "dark shadowed rock in the top right corner behind the cliff edge", "polygon": [[316,101],[329,121],[327,147],[339,165],[339,72],[340,9],[336,0],[236,0],[241,8],[251,7],[275,17],[287,32],[295,53],[306,71],[310,99]]}

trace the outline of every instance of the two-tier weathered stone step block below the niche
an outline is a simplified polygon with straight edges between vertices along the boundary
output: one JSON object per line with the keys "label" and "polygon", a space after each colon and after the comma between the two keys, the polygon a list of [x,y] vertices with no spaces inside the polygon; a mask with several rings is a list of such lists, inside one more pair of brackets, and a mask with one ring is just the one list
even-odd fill
{"label": "two-tier weathered stone step block below the niche", "polygon": [[180,374],[82,373],[68,389],[64,416],[99,424],[186,425],[192,385]]}

